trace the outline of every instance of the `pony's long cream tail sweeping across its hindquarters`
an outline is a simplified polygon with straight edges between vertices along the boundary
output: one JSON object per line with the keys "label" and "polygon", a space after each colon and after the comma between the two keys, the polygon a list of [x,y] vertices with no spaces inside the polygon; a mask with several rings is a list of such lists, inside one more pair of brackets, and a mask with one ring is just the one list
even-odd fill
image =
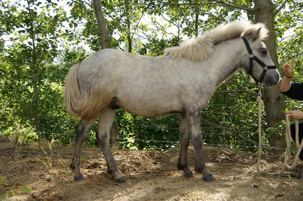
{"label": "pony's long cream tail sweeping across its hindquarters", "polygon": [[110,105],[111,92],[99,87],[97,90],[82,94],[78,85],[79,67],[80,63],[77,63],[68,71],[65,80],[64,103],[69,115],[86,119],[96,118]]}

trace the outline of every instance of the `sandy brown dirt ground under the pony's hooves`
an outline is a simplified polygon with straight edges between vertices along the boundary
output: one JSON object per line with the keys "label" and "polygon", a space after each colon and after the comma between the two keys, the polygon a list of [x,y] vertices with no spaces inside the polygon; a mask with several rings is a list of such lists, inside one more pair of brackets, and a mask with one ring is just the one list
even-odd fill
{"label": "sandy brown dirt ground under the pony's hooves", "polygon": [[[206,165],[216,179],[205,182],[194,173],[191,146],[188,164],[194,178],[185,178],[176,169],[179,147],[165,152],[113,150],[127,180],[120,184],[106,173],[101,149],[84,146],[81,168],[85,180],[75,182],[68,167],[73,147],[42,147],[0,150],[0,199],[14,190],[11,200],[303,200],[303,180],[295,177],[302,171],[301,161],[290,176],[271,176],[257,173],[256,154],[235,154],[229,149],[203,146]],[[260,169],[280,170],[283,163],[277,158],[263,155]],[[32,191],[25,193],[22,186],[31,187]]]}

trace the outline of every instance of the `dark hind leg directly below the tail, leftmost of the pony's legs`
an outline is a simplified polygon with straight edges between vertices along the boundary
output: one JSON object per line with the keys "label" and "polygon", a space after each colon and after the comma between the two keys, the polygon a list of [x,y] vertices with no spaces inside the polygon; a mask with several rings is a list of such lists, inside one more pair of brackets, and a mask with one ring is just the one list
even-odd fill
{"label": "dark hind leg directly below the tail, leftmost of the pony's legs", "polygon": [[74,169],[75,181],[84,180],[84,176],[80,169],[80,164],[81,164],[80,157],[81,157],[82,144],[88,134],[88,131],[92,128],[92,125],[94,124],[94,122],[95,122],[95,119],[91,119],[91,120],[81,119],[75,129],[75,132],[76,132],[75,150],[74,150],[74,156],[72,159],[72,163],[69,166],[72,169]]}

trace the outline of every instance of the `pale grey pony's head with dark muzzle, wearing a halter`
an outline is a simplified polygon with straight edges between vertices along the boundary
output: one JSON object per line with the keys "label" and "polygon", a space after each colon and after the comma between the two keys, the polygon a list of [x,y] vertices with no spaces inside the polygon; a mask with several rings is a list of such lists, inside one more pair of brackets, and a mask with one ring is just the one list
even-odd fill
{"label": "pale grey pony's head with dark muzzle, wearing a halter", "polygon": [[260,39],[261,28],[242,36],[245,48],[243,70],[249,74],[256,82],[265,86],[276,85],[280,79],[279,71],[272,62],[265,44]]}

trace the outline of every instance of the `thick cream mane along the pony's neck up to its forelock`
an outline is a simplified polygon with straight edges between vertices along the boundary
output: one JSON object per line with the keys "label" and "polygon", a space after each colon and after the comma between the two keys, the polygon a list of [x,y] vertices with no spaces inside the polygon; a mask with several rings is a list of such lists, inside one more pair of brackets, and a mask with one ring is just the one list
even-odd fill
{"label": "thick cream mane along the pony's neck up to its forelock", "polygon": [[220,24],[204,32],[201,36],[183,41],[176,47],[168,47],[164,50],[164,56],[172,59],[187,58],[189,60],[205,59],[213,52],[215,44],[236,37],[249,36],[261,27],[258,38],[261,40],[267,36],[267,28],[262,23],[252,24],[251,21],[232,21]]}

